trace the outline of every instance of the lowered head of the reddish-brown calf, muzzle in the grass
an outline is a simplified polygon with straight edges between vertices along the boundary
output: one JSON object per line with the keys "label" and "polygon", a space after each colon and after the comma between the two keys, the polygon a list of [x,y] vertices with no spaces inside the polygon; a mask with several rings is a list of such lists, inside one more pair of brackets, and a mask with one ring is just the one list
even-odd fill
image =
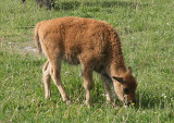
{"label": "lowered head of the reddish-brown calf, muzzle in the grass", "polygon": [[136,79],[132,74],[132,69],[123,73],[120,77],[113,76],[114,90],[124,104],[135,104],[136,102]]}

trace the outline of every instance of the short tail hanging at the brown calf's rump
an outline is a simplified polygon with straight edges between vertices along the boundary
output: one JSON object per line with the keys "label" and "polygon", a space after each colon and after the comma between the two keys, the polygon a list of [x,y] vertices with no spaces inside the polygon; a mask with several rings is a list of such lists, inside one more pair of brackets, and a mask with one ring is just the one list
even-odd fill
{"label": "short tail hanging at the brown calf's rump", "polygon": [[35,37],[34,38],[35,38],[35,45],[37,46],[39,53],[41,53],[42,49],[41,49],[41,44],[39,40],[38,29],[39,29],[39,23],[35,27]]}

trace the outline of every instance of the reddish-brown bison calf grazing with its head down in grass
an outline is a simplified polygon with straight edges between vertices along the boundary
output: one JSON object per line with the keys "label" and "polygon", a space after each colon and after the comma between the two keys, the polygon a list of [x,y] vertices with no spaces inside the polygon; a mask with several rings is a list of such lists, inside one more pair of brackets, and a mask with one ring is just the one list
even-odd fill
{"label": "reddish-brown bison calf grazing with its head down in grass", "polygon": [[[126,69],[117,33],[102,21],[83,17],[59,17],[39,22],[35,28],[35,42],[48,61],[42,67],[46,98],[50,98],[50,79],[64,101],[70,98],[61,82],[61,61],[82,64],[86,104],[91,104],[92,72],[100,74],[107,100],[113,102],[111,87],[123,102],[135,102],[136,79]],[[126,99],[125,99],[126,96]]]}

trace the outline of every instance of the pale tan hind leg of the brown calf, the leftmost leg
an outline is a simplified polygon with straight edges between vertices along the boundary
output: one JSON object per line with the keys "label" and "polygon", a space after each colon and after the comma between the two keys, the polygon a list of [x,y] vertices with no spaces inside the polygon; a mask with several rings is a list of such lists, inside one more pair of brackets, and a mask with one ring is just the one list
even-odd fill
{"label": "pale tan hind leg of the brown calf, the leftmost leg", "polygon": [[51,97],[51,90],[50,90],[51,76],[50,76],[49,61],[47,61],[42,67],[42,81],[45,85],[46,99],[49,99]]}

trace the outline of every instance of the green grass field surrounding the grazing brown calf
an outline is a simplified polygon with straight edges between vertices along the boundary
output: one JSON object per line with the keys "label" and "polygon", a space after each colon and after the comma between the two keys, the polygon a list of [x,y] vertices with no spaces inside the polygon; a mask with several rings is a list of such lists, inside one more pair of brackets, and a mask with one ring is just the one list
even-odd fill
{"label": "green grass field surrounding the grazing brown calf", "polygon": [[[174,1],[58,0],[55,9],[39,9],[34,0],[0,3],[0,123],[173,123],[174,122]],[[72,104],[66,106],[52,84],[45,100],[44,56],[36,52],[34,26],[42,20],[82,16],[107,21],[119,32],[127,66],[137,78],[137,104],[125,109],[105,102],[94,73],[94,107],[85,102],[80,66],[62,63],[62,81]]]}

